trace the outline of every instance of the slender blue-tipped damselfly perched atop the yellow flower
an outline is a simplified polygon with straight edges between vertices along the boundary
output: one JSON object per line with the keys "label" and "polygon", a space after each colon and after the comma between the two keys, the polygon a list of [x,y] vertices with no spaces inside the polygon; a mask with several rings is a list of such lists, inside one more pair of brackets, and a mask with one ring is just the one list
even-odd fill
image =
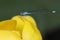
{"label": "slender blue-tipped damselfly perched atop the yellow flower", "polygon": [[20,15],[29,15],[29,14],[47,14],[47,13],[56,13],[56,10],[48,10],[48,9],[39,9],[39,10],[32,10],[32,11],[23,11],[20,12]]}

